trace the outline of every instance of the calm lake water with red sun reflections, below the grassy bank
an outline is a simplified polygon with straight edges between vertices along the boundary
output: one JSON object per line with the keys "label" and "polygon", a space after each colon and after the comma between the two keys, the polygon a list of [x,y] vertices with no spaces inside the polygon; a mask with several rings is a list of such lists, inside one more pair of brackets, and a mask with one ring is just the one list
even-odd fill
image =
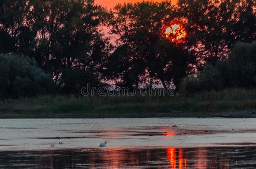
{"label": "calm lake water with red sun reflections, below the grassy bank", "polygon": [[0,119],[0,132],[4,169],[256,166],[256,119]]}

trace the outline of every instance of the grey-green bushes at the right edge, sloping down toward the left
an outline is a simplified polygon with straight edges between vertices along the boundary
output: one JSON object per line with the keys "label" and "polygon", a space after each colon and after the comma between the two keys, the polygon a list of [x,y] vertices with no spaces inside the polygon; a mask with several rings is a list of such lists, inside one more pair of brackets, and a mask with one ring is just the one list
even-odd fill
{"label": "grey-green bushes at the right edge, sloping down toward the left", "polygon": [[236,43],[229,58],[206,64],[197,77],[188,76],[180,83],[186,93],[224,88],[256,87],[256,41]]}

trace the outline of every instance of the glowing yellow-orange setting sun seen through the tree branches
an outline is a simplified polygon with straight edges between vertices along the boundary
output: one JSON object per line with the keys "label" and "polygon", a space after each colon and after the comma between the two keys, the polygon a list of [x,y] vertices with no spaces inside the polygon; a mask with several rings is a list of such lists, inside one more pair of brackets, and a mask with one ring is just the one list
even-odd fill
{"label": "glowing yellow-orange setting sun seen through the tree branches", "polygon": [[174,43],[181,43],[187,36],[184,26],[178,22],[171,22],[165,29],[165,37]]}

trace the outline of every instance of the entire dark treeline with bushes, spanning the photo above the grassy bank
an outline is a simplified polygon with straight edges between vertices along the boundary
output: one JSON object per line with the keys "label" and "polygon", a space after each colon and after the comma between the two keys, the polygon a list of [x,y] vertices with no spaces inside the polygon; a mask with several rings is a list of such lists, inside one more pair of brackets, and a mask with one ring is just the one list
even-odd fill
{"label": "entire dark treeline with bushes, spanning the photo above the grassy bank", "polygon": [[[165,38],[184,24],[183,43]],[[117,38],[113,46],[102,33]],[[81,87],[158,85],[186,92],[256,87],[254,0],[118,4],[1,0],[1,97],[79,93]]]}

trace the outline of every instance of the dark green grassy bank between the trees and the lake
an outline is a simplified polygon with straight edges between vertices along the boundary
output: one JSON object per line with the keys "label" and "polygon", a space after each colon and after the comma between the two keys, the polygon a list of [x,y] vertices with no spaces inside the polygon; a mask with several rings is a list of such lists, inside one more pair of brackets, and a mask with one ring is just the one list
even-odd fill
{"label": "dark green grassy bank between the trees and the lake", "polygon": [[0,117],[224,116],[256,109],[256,89],[190,96],[39,96],[0,101]]}

